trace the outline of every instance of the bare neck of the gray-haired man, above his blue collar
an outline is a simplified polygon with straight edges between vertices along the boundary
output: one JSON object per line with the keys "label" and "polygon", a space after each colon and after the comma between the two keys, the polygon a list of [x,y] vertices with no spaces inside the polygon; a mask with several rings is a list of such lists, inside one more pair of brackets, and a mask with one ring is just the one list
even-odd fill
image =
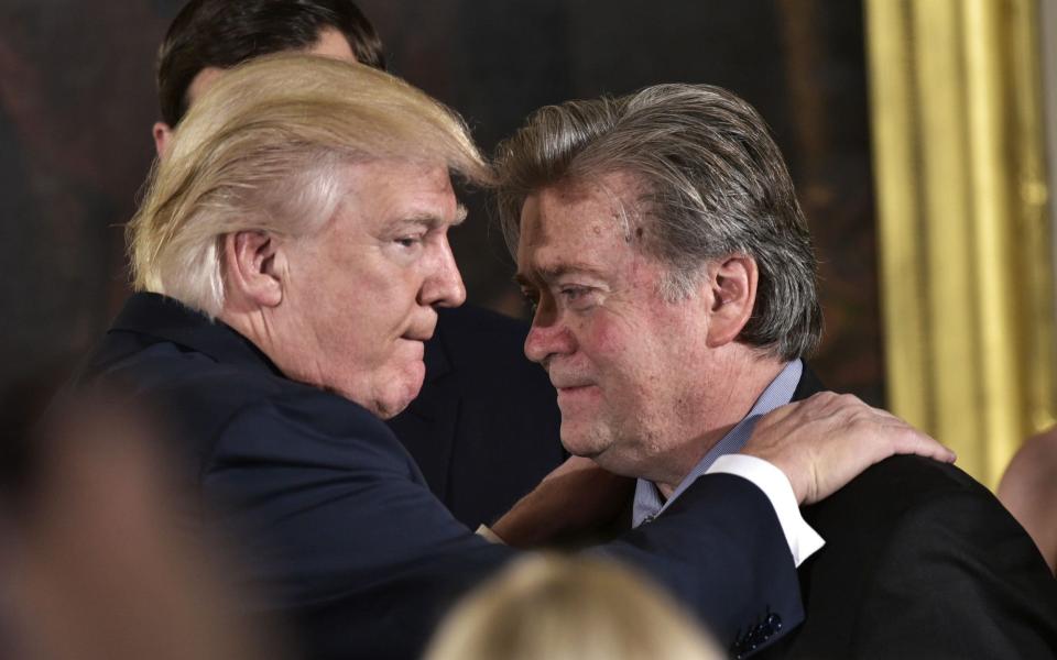
{"label": "bare neck of the gray-haired man, above his blue collar", "polygon": [[693,410],[687,440],[665,450],[666,473],[653,482],[666,498],[691,470],[727,433],[734,428],[774,381],[786,362],[759,358],[739,346],[740,354],[708,374],[704,400]]}

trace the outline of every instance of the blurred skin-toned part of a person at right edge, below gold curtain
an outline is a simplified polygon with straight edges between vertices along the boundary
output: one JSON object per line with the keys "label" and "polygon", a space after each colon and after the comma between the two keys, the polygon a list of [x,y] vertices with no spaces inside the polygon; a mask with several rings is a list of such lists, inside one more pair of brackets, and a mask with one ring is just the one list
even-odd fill
{"label": "blurred skin-toned part of a person at right edge, below gold curtain", "polygon": [[999,499],[1057,571],[1057,427],[1029,438],[1016,452],[1002,482]]}

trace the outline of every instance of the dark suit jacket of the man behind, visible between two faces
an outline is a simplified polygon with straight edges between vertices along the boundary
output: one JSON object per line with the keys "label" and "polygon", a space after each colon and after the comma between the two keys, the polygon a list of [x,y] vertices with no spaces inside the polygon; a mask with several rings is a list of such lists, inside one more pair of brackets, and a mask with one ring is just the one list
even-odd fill
{"label": "dark suit jacket of the man behind, visible between two faces", "polygon": [[468,306],[439,309],[418,397],[389,421],[429,488],[476,529],[565,460],[554,387],[524,355],[527,326]]}

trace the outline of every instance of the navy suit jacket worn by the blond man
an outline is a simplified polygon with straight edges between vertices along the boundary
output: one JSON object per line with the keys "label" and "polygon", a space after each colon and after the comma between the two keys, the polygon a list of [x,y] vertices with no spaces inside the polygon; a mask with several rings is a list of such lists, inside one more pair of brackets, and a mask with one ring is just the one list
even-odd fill
{"label": "navy suit jacket worn by the blond man", "polygon": [[[171,299],[132,296],[79,378],[100,383],[159,411],[174,472],[213,510],[203,522],[244,552],[232,580],[263,590],[247,609],[290,617],[307,657],[415,658],[453,598],[515,556],[458,524],[366,409],[285,378]],[[676,505],[603,551],[721,639],[767,616],[799,623],[796,571],[755,486],[708,475]]]}

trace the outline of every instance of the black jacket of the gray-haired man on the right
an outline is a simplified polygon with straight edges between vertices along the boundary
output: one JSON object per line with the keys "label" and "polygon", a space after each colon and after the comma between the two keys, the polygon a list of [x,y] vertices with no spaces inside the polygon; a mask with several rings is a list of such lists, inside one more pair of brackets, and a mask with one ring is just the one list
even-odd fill
{"label": "black jacket of the gray-haired man on the right", "polygon": [[[821,388],[805,369],[794,398]],[[760,658],[1057,657],[1057,581],[957,468],[895,457],[802,512],[826,539],[799,570],[807,618]]]}

